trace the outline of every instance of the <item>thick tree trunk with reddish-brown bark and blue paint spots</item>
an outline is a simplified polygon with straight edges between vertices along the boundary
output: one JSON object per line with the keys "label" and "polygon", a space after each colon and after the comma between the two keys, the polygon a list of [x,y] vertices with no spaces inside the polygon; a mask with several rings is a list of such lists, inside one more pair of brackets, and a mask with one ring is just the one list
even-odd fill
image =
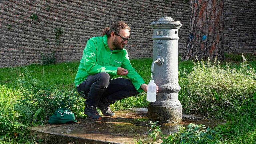
{"label": "thick tree trunk with reddish-brown bark and blue paint spots", "polygon": [[224,0],[191,0],[187,46],[182,60],[224,59]]}

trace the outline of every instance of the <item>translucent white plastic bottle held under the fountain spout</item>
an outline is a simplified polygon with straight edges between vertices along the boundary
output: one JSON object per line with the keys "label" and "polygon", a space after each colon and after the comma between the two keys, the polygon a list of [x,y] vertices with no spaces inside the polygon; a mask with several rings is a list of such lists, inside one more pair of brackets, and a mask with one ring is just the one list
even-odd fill
{"label": "translucent white plastic bottle held under the fountain spout", "polygon": [[154,80],[150,80],[147,87],[147,101],[155,102],[156,101],[156,84]]}

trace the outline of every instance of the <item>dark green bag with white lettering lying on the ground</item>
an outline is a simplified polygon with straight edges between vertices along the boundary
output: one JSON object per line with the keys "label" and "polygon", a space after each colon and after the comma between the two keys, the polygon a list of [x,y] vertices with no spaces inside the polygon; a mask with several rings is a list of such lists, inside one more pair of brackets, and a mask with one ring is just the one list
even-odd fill
{"label": "dark green bag with white lettering lying on the ground", "polygon": [[59,108],[48,120],[48,124],[67,124],[74,122],[78,121],[75,120],[75,115],[67,108]]}

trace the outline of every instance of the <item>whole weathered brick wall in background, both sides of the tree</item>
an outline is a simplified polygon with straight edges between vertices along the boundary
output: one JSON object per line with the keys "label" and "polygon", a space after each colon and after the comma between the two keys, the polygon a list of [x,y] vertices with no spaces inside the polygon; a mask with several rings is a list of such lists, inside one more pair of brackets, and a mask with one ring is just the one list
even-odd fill
{"label": "whole weathered brick wall in background, both sides of the tree", "polygon": [[[225,52],[254,52],[255,7],[253,0],[225,1]],[[162,16],[182,23],[179,30],[179,53],[182,54],[188,35],[189,9],[189,2],[184,0],[2,0],[0,67],[39,63],[40,53],[51,50],[56,51],[57,62],[79,61],[86,41],[100,36],[102,30],[115,21],[125,21],[131,27],[132,40],[126,46],[130,58],[152,57],[150,23]],[[33,13],[38,16],[36,22],[30,19]],[[12,26],[10,30],[6,28],[8,24]],[[55,28],[64,31],[59,40],[55,40]]]}

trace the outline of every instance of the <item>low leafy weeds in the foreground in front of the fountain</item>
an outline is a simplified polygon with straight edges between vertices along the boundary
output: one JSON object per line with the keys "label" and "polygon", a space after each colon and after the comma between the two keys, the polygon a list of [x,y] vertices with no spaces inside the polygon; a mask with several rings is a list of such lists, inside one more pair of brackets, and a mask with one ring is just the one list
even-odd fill
{"label": "low leafy weeds in the foreground in front of the fountain", "polygon": [[[217,132],[211,128],[206,128],[205,125],[197,125],[190,123],[187,129],[183,126],[177,127],[178,132],[165,135],[162,133],[158,121],[151,122],[148,137],[142,139],[134,139],[135,144],[157,144],[162,141],[162,144],[214,144],[216,141],[223,138],[221,131]],[[158,141],[159,140],[159,141]]]}

